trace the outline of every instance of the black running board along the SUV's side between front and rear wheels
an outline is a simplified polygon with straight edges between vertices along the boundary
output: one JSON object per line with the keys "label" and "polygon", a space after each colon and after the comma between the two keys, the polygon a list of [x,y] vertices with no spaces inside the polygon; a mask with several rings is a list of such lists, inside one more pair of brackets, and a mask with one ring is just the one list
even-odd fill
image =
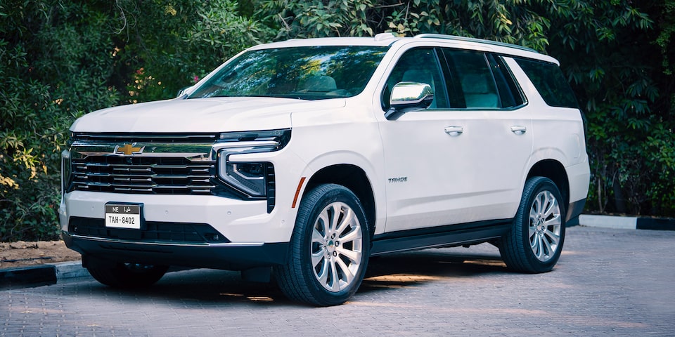
{"label": "black running board along the SUV's side between front and rear wheels", "polygon": [[480,244],[506,234],[513,219],[401,230],[373,237],[371,256],[417,249]]}

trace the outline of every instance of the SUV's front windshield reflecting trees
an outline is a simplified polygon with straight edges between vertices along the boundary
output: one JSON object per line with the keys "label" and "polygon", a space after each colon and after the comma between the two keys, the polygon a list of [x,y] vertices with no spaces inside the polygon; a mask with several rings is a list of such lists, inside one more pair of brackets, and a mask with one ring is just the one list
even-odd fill
{"label": "SUV's front windshield reflecting trees", "polygon": [[377,46],[309,46],[248,51],[188,98],[281,97],[321,100],[364,90],[387,51]]}

